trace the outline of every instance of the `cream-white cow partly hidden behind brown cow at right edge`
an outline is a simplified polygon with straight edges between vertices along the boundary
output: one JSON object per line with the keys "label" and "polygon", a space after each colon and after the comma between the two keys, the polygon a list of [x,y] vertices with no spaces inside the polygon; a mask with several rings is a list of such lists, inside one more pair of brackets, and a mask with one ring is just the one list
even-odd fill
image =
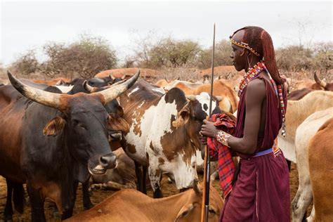
{"label": "cream-white cow partly hidden behind brown cow at right edge", "polygon": [[[320,126],[327,119],[333,117],[333,107],[327,110],[314,112],[309,115],[297,128],[295,135],[295,147],[297,157],[297,169],[299,171],[299,188],[292,200],[292,218],[293,221],[302,221],[306,209],[313,199],[310,182],[310,173],[308,167],[308,144],[310,139],[315,135]],[[307,221],[313,221],[314,207],[311,217]]]}

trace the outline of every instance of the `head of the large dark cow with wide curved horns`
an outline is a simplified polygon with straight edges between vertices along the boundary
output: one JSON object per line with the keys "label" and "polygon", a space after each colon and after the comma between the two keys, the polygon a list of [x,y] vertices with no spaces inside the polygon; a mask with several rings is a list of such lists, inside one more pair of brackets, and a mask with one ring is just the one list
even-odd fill
{"label": "head of the large dark cow with wide curved horns", "polygon": [[104,105],[129,89],[138,76],[97,93],[74,95],[51,93],[34,89],[8,72],[11,84],[23,96],[41,105],[53,107],[61,115],[51,119],[44,127],[46,136],[63,136],[72,157],[86,166],[91,174],[103,174],[117,164],[116,156],[110,151],[108,129],[112,128],[112,117]]}

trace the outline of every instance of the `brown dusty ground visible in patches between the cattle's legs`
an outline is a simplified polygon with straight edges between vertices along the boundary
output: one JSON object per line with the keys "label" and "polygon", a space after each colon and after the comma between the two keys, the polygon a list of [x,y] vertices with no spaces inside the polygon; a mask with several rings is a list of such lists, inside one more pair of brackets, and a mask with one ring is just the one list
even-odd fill
{"label": "brown dusty ground visible in patches between the cattle's legs", "polygon": [[[200,179],[202,179],[202,176],[200,175]],[[219,184],[218,181],[214,181],[214,188],[219,190]],[[290,189],[291,189],[291,200],[296,194],[297,187],[299,185],[298,181],[298,174],[296,165],[292,164],[292,171],[290,172]],[[167,183],[166,177],[162,179],[162,191],[164,193],[164,196],[174,195],[178,193],[178,190],[176,190],[175,186],[173,184]],[[112,195],[115,193],[115,191],[104,191],[104,190],[96,190],[93,191],[93,195],[91,197],[91,201],[93,204],[98,204],[102,202],[106,197]],[[152,197],[152,190],[148,190],[148,195]],[[4,181],[4,178],[0,177],[0,218],[2,218],[2,214],[4,212],[4,207],[6,204],[6,181]],[[51,207],[51,202],[46,202],[45,204],[46,209],[46,218],[48,221],[60,221],[59,218],[55,218],[53,215],[53,210]],[[310,209],[308,209],[308,214],[310,213]],[[78,214],[79,212],[83,211],[83,204],[82,204],[82,190],[81,187],[77,191],[77,202],[75,204],[74,208],[74,214]],[[27,205],[25,207],[25,213],[23,215],[19,215],[18,213],[14,214],[14,221],[30,221],[30,207]],[[1,221],[1,219],[0,219]]]}

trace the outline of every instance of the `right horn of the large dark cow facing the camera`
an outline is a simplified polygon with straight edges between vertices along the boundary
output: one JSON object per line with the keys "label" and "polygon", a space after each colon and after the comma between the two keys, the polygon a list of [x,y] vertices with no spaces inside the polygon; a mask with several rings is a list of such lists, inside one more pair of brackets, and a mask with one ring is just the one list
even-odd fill
{"label": "right horn of the large dark cow facing the camera", "polygon": [[122,84],[118,84],[116,86],[111,85],[109,89],[99,91],[98,93],[104,97],[103,103],[109,103],[110,101],[120,96],[120,94],[124,93],[124,91],[129,89],[131,86],[133,86],[133,84],[136,82],[136,79],[138,79],[140,72],[141,71],[138,70],[138,72],[136,72],[136,74],[134,74],[131,79],[128,79]]}

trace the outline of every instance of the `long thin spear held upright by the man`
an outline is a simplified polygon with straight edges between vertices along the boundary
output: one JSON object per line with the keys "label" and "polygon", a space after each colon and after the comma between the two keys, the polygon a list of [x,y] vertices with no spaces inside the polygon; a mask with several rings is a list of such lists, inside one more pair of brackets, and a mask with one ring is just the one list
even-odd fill
{"label": "long thin spear held upright by the man", "polygon": [[[213,34],[213,51],[211,51],[211,95],[209,100],[209,117],[211,117],[211,105],[213,103],[214,51],[215,51],[215,23],[214,23],[214,34]],[[202,194],[201,222],[208,222],[209,185],[210,185],[210,161],[209,161],[209,148],[208,145],[206,145],[204,147],[204,190]]]}

